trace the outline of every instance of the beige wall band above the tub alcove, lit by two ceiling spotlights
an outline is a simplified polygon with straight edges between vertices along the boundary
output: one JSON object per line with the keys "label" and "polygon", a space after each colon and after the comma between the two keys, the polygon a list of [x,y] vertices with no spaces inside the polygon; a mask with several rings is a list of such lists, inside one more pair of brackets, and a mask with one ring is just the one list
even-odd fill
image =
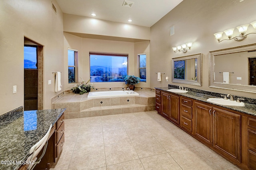
{"label": "beige wall band above the tub alcove, lit by two ceiling spotlights", "polygon": [[63,14],[63,23],[63,29],[66,32],[134,39],[150,39],[149,27],[98,20],[71,14]]}

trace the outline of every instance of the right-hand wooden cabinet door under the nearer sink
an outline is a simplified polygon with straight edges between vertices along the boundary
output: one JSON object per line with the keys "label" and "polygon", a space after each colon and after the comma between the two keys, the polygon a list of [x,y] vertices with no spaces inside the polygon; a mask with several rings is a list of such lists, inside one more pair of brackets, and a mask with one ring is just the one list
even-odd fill
{"label": "right-hand wooden cabinet door under the nearer sink", "polygon": [[213,147],[232,159],[241,161],[240,115],[214,108]]}

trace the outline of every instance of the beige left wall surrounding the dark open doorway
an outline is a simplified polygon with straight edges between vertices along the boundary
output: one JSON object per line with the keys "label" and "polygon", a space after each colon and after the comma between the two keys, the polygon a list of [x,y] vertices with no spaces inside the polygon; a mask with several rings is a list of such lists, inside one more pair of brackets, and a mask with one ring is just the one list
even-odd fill
{"label": "beige left wall surrounding the dark open doorway", "polygon": [[[24,37],[44,45],[44,109],[51,108],[50,98],[57,94],[52,71],[64,72],[63,19],[56,1],[1,0],[0,115],[24,104]],[[52,80],[51,85],[48,80]],[[15,85],[17,93],[12,94]]]}

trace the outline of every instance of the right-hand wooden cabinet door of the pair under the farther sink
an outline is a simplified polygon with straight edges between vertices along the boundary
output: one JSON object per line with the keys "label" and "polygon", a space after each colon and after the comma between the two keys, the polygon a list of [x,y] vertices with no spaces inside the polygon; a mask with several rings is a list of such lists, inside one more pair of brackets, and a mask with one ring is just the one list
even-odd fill
{"label": "right-hand wooden cabinet door of the pair under the farther sink", "polygon": [[177,125],[180,125],[179,99],[179,96],[170,94],[170,120]]}

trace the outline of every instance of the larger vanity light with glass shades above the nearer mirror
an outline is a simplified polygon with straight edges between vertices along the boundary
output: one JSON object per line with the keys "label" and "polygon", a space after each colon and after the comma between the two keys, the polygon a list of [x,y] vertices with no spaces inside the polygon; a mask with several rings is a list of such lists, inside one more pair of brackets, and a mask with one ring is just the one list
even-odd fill
{"label": "larger vanity light with glass shades above the nearer mirror", "polygon": [[[253,21],[250,24],[254,27],[254,29],[256,29],[256,21]],[[231,39],[234,39],[236,41],[242,41],[247,37],[247,35],[256,34],[256,33],[246,34],[246,31],[247,31],[250,24],[240,25],[240,26],[236,27],[240,34],[236,35],[233,38],[232,38],[232,35],[233,35],[233,32],[234,32],[234,28],[226,29],[225,31],[223,31],[226,34],[226,36],[228,37],[228,39],[221,39],[223,32],[215,33],[214,36],[219,41],[219,43],[223,40],[231,40]]]}

